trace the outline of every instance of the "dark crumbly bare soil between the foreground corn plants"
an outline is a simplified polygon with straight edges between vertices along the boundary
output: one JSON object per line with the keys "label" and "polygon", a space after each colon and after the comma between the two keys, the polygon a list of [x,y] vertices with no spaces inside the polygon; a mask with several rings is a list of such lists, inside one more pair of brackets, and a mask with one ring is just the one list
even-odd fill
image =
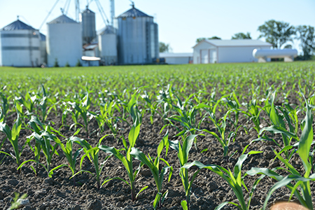
{"label": "dark crumbly bare soil between the foreground corn plants", "polygon": [[[267,119],[267,116],[262,116]],[[15,120],[15,114],[11,114],[8,118],[8,125],[11,127]],[[68,119],[71,122],[71,118]],[[27,120],[26,120],[27,121]],[[60,117],[55,116],[54,113],[50,113],[48,121],[55,123],[53,127],[59,128]],[[267,120],[268,121],[268,120]],[[82,122],[81,122],[82,123]],[[160,140],[165,134],[164,130],[160,134],[160,130],[163,127],[163,120],[159,116],[155,116],[153,125],[150,123],[149,116],[144,116],[141,130],[139,134],[139,139],[137,142],[137,148],[143,151],[145,154],[150,153],[151,157],[155,157],[156,150]],[[240,115],[239,125],[246,125],[246,127],[253,127],[253,123],[248,122],[245,116]],[[266,127],[267,123],[262,120],[262,126]],[[127,123],[121,123],[120,125],[123,130],[120,134],[124,134],[127,139],[130,127]],[[205,122],[202,123],[203,128],[207,128],[211,131],[216,131],[213,123]],[[81,130],[78,137],[86,139],[90,144],[96,146],[98,140],[104,135],[109,134],[110,130],[106,130],[102,135],[97,136],[98,129],[97,122],[92,120],[90,122],[90,137],[85,138],[84,129]],[[21,146],[22,143],[26,141],[26,137],[31,134],[30,130],[22,130],[20,133]],[[62,134],[66,137],[71,137],[73,130],[68,131],[66,127],[62,129]],[[169,139],[176,140],[180,138],[174,137],[177,134],[174,127],[169,127]],[[120,137],[120,135],[118,135]],[[0,134],[0,139],[2,140],[4,135]],[[205,136],[197,137],[197,146],[200,151],[208,149],[203,153],[197,153],[195,147],[190,151],[189,162],[198,160],[204,164],[215,164],[220,165],[225,168],[230,168],[232,171],[234,165],[237,162],[237,158],[241,155],[244,147],[251,142],[253,139],[257,139],[257,132],[255,130],[250,130],[246,134],[244,128],[240,128],[237,137],[234,142],[230,143],[229,155],[235,153],[232,158],[223,157],[223,148],[218,141],[209,134]],[[281,144],[281,136],[276,134],[274,137],[279,144]],[[120,138],[114,139],[109,136],[102,141],[102,145],[114,146],[116,148],[123,148],[122,141]],[[77,145],[75,148],[79,148]],[[262,151],[263,153],[257,155],[249,155],[248,159],[244,162],[242,167],[243,174],[247,172],[251,167],[267,167],[272,169],[277,166],[282,166],[283,164],[278,160],[274,160],[274,153],[272,148],[279,151],[279,148],[272,143],[264,143],[262,141],[255,142],[248,147],[248,151]],[[7,153],[13,153],[13,148],[8,141],[4,144],[2,151]],[[246,152],[246,153],[247,153]],[[57,165],[67,164],[67,160],[62,154],[62,151],[58,148],[58,155],[54,155],[52,158],[52,167]],[[81,154],[82,155],[82,154]],[[81,157],[79,155],[79,158]],[[100,151],[99,162],[102,162],[106,157],[106,153]],[[165,158],[165,151],[162,154]],[[34,159],[34,153],[31,151],[29,146],[25,148],[21,156],[21,162],[29,159]],[[38,176],[34,176],[34,172],[31,170],[29,165],[22,167],[22,172],[18,174],[16,168],[17,165],[15,160],[9,157],[4,157],[3,154],[0,155],[0,160],[3,160],[0,165],[0,209],[8,209],[10,207],[10,201],[14,197],[14,193],[27,193],[27,198],[30,201],[30,205],[24,207],[24,209],[152,209],[153,200],[157,193],[155,182],[150,170],[146,167],[142,167],[141,172],[137,176],[137,181],[135,186],[137,192],[144,186],[148,186],[143,193],[139,195],[137,201],[132,202],[130,188],[126,183],[119,180],[113,180],[106,183],[100,190],[97,190],[97,182],[94,176],[89,173],[78,174],[76,176],[76,186],[73,186],[73,179],[71,177],[71,171],[67,167],[63,167],[53,174],[52,178],[48,178],[47,173],[43,167],[40,168]],[[174,173],[172,175],[171,181],[167,182],[167,176],[165,176],[165,181],[162,186],[162,193],[169,190],[167,199],[162,204],[162,209],[181,209],[181,201],[185,200],[185,192],[183,189],[183,184],[179,176],[179,159],[177,157],[176,151],[169,148],[167,157],[165,158],[172,167],[174,167]],[[41,162],[45,165],[45,157],[41,156]],[[77,161],[76,169],[79,169],[80,159]],[[295,155],[291,160],[291,163],[300,172],[303,171],[302,164],[298,155]],[[134,160],[134,168],[139,165],[138,160]],[[164,163],[161,163],[164,167]],[[161,167],[161,168],[162,168]],[[94,172],[94,166],[92,163],[85,158],[83,162],[83,169]],[[196,171],[196,168],[191,168],[189,170],[190,177]],[[283,175],[286,174],[283,172]],[[101,182],[106,178],[113,178],[119,176],[127,180],[127,172],[123,164],[118,161],[115,157],[109,158],[105,163],[104,169],[102,171]],[[248,190],[255,179],[258,176],[246,176],[244,181]],[[260,209],[268,190],[274,185],[275,181],[265,177],[255,190],[253,199],[251,201],[250,209]],[[315,192],[314,183],[311,186],[312,194]],[[244,189],[244,195],[246,200],[248,199],[249,193]],[[288,200],[290,197],[290,191],[287,188],[281,188],[273,193],[269,204],[278,200]],[[313,195],[314,197],[314,195]],[[314,197],[315,198],[315,197]],[[296,198],[293,196],[293,200]],[[235,202],[238,203],[235,194],[228,185],[228,183],[223,180],[220,176],[217,176],[213,172],[203,169],[200,174],[198,174],[192,187],[192,195],[190,201],[190,209],[215,209],[222,202]],[[315,201],[314,201],[315,203]],[[225,206],[225,209],[236,209],[232,205]]]}

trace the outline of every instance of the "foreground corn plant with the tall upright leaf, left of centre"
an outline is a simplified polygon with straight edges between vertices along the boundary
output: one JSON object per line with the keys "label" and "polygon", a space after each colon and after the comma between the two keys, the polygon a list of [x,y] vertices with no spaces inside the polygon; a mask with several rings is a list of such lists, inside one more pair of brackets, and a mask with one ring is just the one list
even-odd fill
{"label": "foreground corn plant with the tall upright leaf, left of centre", "polygon": [[[130,154],[130,152],[132,151],[132,148],[136,145],[137,138],[139,136],[140,126],[141,126],[141,115],[139,115],[139,112],[136,110],[136,108],[134,108],[133,100],[130,101],[130,104],[132,105],[128,106],[129,107],[128,111],[130,112],[130,115],[132,116],[132,120],[134,124],[132,125],[129,135],[128,135],[129,147],[127,146],[127,141],[123,137],[124,148],[118,150],[113,147],[102,145],[102,146],[99,146],[99,149],[104,151],[105,153],[110,153],[111,155],[114,155],[118,160],[123,162],[123,165],[128,174],[129,182],[119,177],[115,177],[112,179],[119,179],[127,183],[127,185],[130,186],[132,201],[135,201],[137,200],[139,193],[141,193],[142,190],[146,189],[147,187],[142,188],[139,191],[139,193],[136,195],[136,188],[134,186],[134,181],[136,179],[137,174],[139,173],[141,169],[142,164],[139,165],[139,167],[136,170],[134,170],[133,165],[132,165],[132,155]],[[120,151],[125,151],[126,155],[124,156],[122,153],[120,153]],[[104,183],[111,181],[112,179],[106,179]],[[104,185],[104,183],[102,184],[102,186]]]}

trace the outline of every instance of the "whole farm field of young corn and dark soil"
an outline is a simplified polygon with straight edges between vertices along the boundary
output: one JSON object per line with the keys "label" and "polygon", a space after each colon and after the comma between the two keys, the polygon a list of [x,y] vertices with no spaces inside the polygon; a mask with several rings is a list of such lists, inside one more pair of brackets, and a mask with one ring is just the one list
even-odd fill
{"label": "whole farm field of young corn and dark soil", "polygon": [[0,209],[313,209],[315,62],[0,73]]}

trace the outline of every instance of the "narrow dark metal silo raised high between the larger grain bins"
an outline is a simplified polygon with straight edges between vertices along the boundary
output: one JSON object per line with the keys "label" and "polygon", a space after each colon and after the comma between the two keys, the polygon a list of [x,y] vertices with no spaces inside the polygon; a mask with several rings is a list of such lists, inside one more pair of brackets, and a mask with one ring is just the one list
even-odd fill
{"label": "narrow dark metal silo raised high between the larger grain bins", "polygon": [[80,20],[82,22],[83,44],[91,43],[97,36],[95,30],[95,13],[86,7],[86,9],[80,13]]}

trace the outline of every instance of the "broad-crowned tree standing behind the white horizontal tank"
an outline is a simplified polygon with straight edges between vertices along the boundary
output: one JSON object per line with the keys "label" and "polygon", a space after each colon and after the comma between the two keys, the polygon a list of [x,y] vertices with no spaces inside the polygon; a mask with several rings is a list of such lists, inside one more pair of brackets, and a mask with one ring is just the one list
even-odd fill
{"label": "broad-crowned tree standing behind the white horizontal tank", "polygon": [[258,27],[260,36],[265,37],[266,41],[272,44],[273,48],[280,49],[288,41],[293,41],[292,36],[295,34],[295,28],[288,22],[269,20],[264,25]]}

